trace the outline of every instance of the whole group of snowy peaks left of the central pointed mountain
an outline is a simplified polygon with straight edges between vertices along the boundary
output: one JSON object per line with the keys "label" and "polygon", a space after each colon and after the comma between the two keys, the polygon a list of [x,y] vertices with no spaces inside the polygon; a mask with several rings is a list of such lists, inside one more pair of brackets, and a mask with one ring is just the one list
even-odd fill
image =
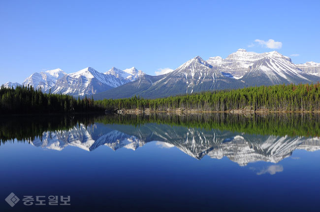
{"label": "whole group of snowy peaks left of the central pointed mountain", "polygon": [[[88,67],[78,72],[66,74],[61,69],[34,73],[25,79],[24,85],[41,87],[43,92],[69,94],[72,96],[92,95],[134,81],[144,73],[132,67],[124,71],[113,67],[106,73]],[[9,83],[6,83],[9,84]]]}

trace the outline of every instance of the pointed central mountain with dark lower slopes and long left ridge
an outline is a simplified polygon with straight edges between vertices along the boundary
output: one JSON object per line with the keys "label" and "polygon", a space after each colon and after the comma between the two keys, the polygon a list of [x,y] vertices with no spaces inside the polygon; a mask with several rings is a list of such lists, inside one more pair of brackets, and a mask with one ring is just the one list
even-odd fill
{"label": "pointed central mountain with dark lower slopes and long left ridge", "polygon": [[[131,89],[128,92],[129,87]],[[94,97],[103,99],[140,95],[145,98],[157,98],[206,90],[239,88],[245,87],[245,84],[240,80],[224,76],[217,68],[196,56],[171,73],[157,77],[140,77],[134,83],[130,83],[129,87],[125,84]]]}

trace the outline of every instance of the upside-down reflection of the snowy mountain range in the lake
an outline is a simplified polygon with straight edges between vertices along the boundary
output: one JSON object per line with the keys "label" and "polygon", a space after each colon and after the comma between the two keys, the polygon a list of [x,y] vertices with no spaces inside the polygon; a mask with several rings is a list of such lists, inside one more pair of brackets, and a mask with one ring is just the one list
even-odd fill
{"label": "upside-down reflection of the snowy mountain range in the lake", "polygon": [[139,127],[99,123],[85,127],[80,124],[67,131],[44,132],[42,139],[36,138],[32,144],[55,150],[62,150],[68,145],[87,151],[101,145],[113,150],[122,147],[135,150],[150,141],[174,145],[196,159],[205,155],[215,159],[226,156],[239,165],[257,160],[276,163],[290,156],[295,149],[320,150],[318,137],[256,135],[155,123]]}

